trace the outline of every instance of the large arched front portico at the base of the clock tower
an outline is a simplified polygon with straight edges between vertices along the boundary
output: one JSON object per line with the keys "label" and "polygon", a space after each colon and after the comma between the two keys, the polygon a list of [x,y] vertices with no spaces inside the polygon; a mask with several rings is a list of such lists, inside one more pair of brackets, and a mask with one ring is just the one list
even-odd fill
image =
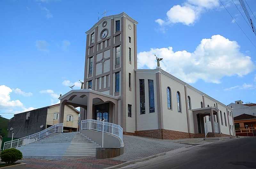
{"label": "large arched front portico at the base of the clock tower", "polygon": [[[103,120],[118,124],[118,97],[92,89],[71,90],[60,99],[60,119],[63,123],[64,106],[80,107],[79,124],[84,119]],[[80,125],[79,125],[80,128]]]}

